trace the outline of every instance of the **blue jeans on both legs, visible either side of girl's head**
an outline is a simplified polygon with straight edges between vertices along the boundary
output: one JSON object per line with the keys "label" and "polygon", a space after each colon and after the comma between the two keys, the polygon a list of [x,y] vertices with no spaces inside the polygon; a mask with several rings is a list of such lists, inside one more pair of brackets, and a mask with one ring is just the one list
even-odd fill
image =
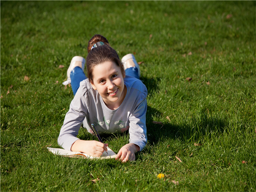
{"label": "blue jeans on both legs, visible either side of girl's head", "polygon": [[[125,69],[125,75],[133,76],[137,79],[140,79],[137,67],[131,67],[131,68]],[[75,67],[70,73],[70,79],[71,79],[72,91],[73,91],[73,94],[75,95],[80,86],[80,82],[83,81],[84,79],[87,79],[87,77],[85,76],[82,68]]]}

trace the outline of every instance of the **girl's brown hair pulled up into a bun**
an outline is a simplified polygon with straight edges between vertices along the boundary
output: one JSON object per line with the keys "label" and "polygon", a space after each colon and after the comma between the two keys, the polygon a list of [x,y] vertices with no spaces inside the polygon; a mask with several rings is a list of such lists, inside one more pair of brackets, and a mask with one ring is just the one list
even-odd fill
{"label": "girl's brown hair pulled up into a bun", "polygon": [[[104,45],[95,47],[93,49],[92,46],[97,42],[103,42]],[[106,61],[113,61],[116,63],[117,66],[120,67],[123,76],[125,76],[124,66],[120,61],[117,52],[113,49],[108,40],[101,36],[101,35],[94,35],[90,41],[88,42],[87,47],[88,55],[86,58],[86,70],[87,70],[87,77],[92,82],[93,76],[92,71],[96,65],[104,63]]]}

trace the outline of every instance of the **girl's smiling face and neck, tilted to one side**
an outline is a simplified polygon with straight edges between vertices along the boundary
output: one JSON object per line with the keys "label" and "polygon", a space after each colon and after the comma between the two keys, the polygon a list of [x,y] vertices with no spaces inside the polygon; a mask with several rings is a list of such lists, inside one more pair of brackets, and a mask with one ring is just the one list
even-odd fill
{"label": "girl's smiling face and neck, tilted to one side", "polygon": [[125,74],[122,74],[120,67],[113,61],[106,61],[93,68],[92,76],[92,87],[99,92],[107,107],[112,110],[118,108],[127,91]]}

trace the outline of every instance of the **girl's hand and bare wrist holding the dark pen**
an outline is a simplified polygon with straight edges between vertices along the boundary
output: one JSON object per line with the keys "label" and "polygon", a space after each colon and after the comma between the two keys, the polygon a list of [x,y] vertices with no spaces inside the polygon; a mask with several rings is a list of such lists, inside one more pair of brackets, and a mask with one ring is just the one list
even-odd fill
{"label": "girl's hand and bare wrist holding the dark pen", "polygon": [[107,147],[108,143],[95,140],[76,140],[71,147],[71,151],[79,151],[90,156],[99,157],[104,151],[108,151]]}

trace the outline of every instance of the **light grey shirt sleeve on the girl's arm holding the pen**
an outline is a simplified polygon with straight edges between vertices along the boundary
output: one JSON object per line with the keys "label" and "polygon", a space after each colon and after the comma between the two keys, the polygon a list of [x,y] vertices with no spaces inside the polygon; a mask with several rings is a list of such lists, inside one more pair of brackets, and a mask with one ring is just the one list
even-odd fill
{"label": "light grey shirt sleeve on the girl's arm holding the pen", "polygon": [[88,114],[88,109],[86,108],[86,92],[82,94],[81,85],[76,92],[74,99],[70,103],[70,108],[65,116],[63,125],[60,129],[60,135],[58,137],[58,144],[71,151],[71,147],[77,138],[80,126]]}

